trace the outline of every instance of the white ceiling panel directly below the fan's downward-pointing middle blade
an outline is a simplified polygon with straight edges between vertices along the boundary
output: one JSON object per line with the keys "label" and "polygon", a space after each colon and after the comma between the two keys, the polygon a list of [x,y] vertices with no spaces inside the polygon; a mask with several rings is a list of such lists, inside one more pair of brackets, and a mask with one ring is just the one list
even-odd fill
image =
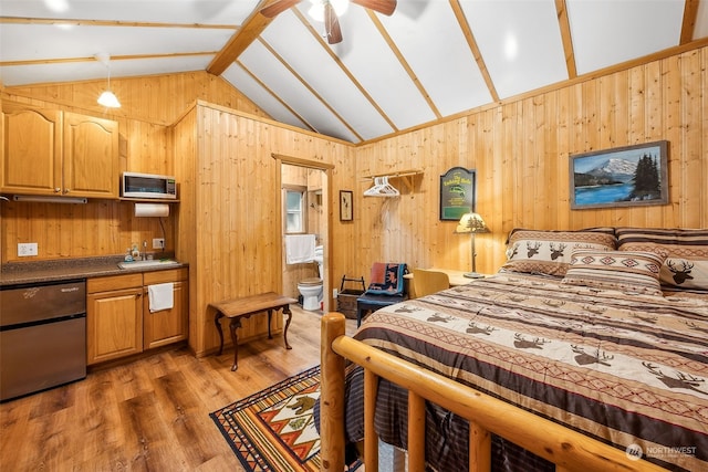
{"label": "white ceiling panel directly below the fan's downward-pointing middle blade", "polygon": [[366,12],[351,6],[340,19],[344,40],[332,49],[398,129],[435,114]]}

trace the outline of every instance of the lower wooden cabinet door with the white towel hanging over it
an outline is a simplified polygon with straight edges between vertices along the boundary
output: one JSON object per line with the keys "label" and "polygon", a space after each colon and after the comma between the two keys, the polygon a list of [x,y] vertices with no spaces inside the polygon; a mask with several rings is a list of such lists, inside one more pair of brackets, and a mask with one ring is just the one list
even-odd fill
{"label": "lower wooden cabinet door with the white towel hanging over it", "polygon": [[188,282],[175,282],[175,304],[171,310],[150,313],[147,286],[143,296],[144,344],[145,349],[165,346],[187,339],[189,308]]}

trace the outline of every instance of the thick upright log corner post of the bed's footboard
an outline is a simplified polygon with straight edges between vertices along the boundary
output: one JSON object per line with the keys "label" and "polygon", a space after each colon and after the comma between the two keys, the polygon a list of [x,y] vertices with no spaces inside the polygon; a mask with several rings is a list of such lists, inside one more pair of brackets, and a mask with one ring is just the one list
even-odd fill
{"label": "thick upright log corner post of the bed's footboard", "polygon": [[320,454],[322,471],[344,470],[344,358],[332,350],[332,342],[344,336],[345,318],[341,313],[322,317],[320,342]]}

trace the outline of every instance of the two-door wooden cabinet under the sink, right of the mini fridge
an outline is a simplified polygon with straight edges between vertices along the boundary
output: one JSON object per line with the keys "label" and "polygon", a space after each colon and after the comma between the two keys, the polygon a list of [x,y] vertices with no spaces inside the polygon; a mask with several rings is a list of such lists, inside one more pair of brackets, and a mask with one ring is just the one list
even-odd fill
{"label": "two-door wooden cabinet under the sink, right of the mini fridge", "polygon": [[[132,273],[86,281],[87,364],[118,359],[187,339],[188,270]],[[148,286],[173,283],[174,306],[150,312]]]}

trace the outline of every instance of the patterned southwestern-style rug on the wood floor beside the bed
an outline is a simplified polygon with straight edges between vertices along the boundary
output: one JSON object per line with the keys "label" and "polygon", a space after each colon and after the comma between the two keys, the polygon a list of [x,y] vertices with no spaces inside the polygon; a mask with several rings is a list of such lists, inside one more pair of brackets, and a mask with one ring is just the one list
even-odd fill
{"label": "patterned southwestern-style rug on the wood floor beside the bed", "polygon": [[209,416],[247,471],[319,471],[320,366]]}

